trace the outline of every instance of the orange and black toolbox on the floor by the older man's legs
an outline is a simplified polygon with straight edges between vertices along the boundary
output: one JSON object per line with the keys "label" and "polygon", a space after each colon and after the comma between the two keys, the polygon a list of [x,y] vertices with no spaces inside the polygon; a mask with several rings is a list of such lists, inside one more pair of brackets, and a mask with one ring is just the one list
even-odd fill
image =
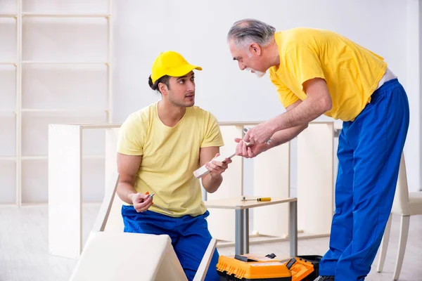
{"label": "orange and black toolbox on the floor by the older man's legs", "polygon": [[219,256],[217,273],[220,281],[307,281],[318,277],[318,256],[296,256],[288,261],[278,261],[275,256]]}

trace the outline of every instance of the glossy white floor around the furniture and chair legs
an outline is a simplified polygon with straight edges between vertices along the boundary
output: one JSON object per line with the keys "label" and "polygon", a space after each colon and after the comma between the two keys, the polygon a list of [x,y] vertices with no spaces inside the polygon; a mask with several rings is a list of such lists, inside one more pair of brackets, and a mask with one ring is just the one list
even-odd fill
{"label": "glossy white floor around the furniture and chair legs", "polygon": [[[97,204],[84,206],[84,237],[94,222]],[[399,217],[394,216],[385,269],[376,272],[376,262],[366,280],[392,280],[397,253]],[[411,217],[409,240],[399,280],[422,280],[422,216]],[[48,209],[46,206],[6,208],[0,207],[0,280],[1,281],[61,281],[68,280],[76,261],[48,254]],[[288,256],[288,242],[252,244],[250,252],[274,253]],[[323,255],[328,238],[299,240],[299,254]],[[234,254],[234,247],[219,248],[219,254]]]}

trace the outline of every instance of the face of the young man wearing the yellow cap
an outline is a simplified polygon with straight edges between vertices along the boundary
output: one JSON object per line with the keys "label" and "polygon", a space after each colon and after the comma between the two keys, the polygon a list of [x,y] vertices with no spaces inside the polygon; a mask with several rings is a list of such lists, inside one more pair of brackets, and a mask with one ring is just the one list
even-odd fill
{"label": "face of the young man wearing the yellow cap", "polygon": [[191,107],[195,105],[195,76],[193,71],[182,77],[170,77],[167,98],[174,105]]}

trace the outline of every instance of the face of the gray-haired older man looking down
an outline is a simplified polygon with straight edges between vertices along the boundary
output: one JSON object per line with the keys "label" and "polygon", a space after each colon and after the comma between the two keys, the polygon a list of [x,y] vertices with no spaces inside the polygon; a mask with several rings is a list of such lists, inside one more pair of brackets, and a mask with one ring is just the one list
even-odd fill
{"label": "face of the gray-haired older man looking down", "polygon": [[248,49],[239,48],[234,41],[229,41],[229,49],[233,60],[237,60],[240,70],[250,70],[250,72],[262,77],[265,71],[262,69],[260,53],[256,49],[249,47]]}

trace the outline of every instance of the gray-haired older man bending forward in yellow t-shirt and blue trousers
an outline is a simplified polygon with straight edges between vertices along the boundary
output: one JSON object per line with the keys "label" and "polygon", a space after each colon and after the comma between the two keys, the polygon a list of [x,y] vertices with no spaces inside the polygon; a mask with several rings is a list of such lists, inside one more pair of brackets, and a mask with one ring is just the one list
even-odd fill
{"label": "gray-haired older man bending forward in yellow t-shirt and blue trousers", "polygon": [[258,77],[269,70],[286,107],[246,133],[252,145],[237,140],[238,155],[286,143],[320,115],[343,120],[330,249],[316,280],[364,280],[395,195],[409,126],[406,92],[383,58],[328,30],[275,32],[247,19],[235,22],[227,39],[241,70]]}

